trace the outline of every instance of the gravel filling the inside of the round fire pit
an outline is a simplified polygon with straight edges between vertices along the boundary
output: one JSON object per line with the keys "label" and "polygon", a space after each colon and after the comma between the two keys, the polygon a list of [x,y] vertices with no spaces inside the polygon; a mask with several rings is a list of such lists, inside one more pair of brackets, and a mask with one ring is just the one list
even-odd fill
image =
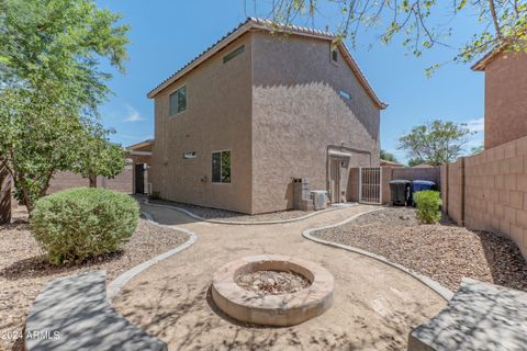
{"label": "gravel filling the inside of the round fire pit", "polygon": [[294,272],[256,271],[238,275],[236,284],[261,296],[296,293],[307,287],[310,281]]}

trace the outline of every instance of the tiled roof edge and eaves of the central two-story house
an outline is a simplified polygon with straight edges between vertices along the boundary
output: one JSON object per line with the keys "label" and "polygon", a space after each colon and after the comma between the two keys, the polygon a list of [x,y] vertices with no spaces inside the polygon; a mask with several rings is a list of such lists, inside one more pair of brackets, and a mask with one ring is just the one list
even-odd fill
{"label": "tiled roof edge and eaves of the central two-story house", "polygon": [[[251,30],[262,30],[267,32],[281,32],[281,33],[301,35],[301,36],[316,37],[316,38],[326,39],[326,41],[334,41],[337,38],[335,34],[326,31],[318,31],[318,30],[313,30],[313,29],[298,26],[298,25],[284,25],[284,24],[277,25],[272,21],[257,19],[257,18],[248,18],[245,22],[242,22],[236,29],[227,33],[220,41],[217,41],[208,49],[205,49],[203,53],[198,55],[189,64],[187,64],[181,69],[176,71],[172,76],[170,76],[168,79],[159,83],[156,88],[154,88],[150,92],[148,92],[147,97],[150,99],[154,98],[164,89],[166,89],[169,84],[180,79],[181,77],[190,72],[192,69],[197,68],[200,64],[209,59],[211,56],[220,52],[222,48],[224,48],[225,46],[227,46],[228,44],[237,39],[239,36],[242,36],[243,34]],[[379,97],[375,94],[370,83],[366,79],[365,75],[360,71],[359,66],[357,65],[355,59],[351,57],[351,54],[349,54],[349,50],[346,47],[346,45],[341,42],[338,42],[338,46],[340,47],[340,50],[344,54],[343,56],[345,57],[349,67],[351,68],[354,73],[357,76],[357,79],[359,80],[360,84],[366,90],[370,99],[375,103],[375,105],[379,109],[384,110],[388,105],[384,102],[382,102],[379,99]]]}

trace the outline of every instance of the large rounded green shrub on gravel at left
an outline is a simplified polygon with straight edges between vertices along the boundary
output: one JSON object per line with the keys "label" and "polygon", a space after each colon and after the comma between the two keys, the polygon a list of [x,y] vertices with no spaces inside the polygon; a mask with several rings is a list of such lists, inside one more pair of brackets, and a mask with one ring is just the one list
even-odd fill
{"label": "large rounded green shrub on gravel at left", "polygon": [[115,251],[132,237],[138,218],[139,206],[126,194],[74,188],[38,200],[31,227],[49,261],[75,263]]}

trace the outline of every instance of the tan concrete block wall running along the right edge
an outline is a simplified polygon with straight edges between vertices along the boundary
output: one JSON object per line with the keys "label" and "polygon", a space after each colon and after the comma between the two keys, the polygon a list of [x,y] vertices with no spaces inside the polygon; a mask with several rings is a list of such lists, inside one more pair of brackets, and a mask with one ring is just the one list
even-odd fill
{"label": "tan concrete block wall running along the right edge", "polygon": [[445,165],[441,180],[458,225],[511,238],[527,259],[527,137]]}

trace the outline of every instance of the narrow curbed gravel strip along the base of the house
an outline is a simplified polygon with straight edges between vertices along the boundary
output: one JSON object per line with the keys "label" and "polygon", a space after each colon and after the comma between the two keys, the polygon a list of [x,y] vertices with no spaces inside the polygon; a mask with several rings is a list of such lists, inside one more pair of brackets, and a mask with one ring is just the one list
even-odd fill
{"label": "narrow curbed gravel strip along the base of the house", "polygon": [[233,222],[267,222],[267,220],[283,220],[293,219],[305,216],[314,211],[280,211],[273,213],[265,213],[259,215],[247,215],[238,212],[217,210],[211,207],[203,207],[191,204],[183,204],[179,202],[165,201],[165,200],[149,200],[150,204],[177,206],[193,213],[205,219],[218,219],[218,220],[233,220]]}

